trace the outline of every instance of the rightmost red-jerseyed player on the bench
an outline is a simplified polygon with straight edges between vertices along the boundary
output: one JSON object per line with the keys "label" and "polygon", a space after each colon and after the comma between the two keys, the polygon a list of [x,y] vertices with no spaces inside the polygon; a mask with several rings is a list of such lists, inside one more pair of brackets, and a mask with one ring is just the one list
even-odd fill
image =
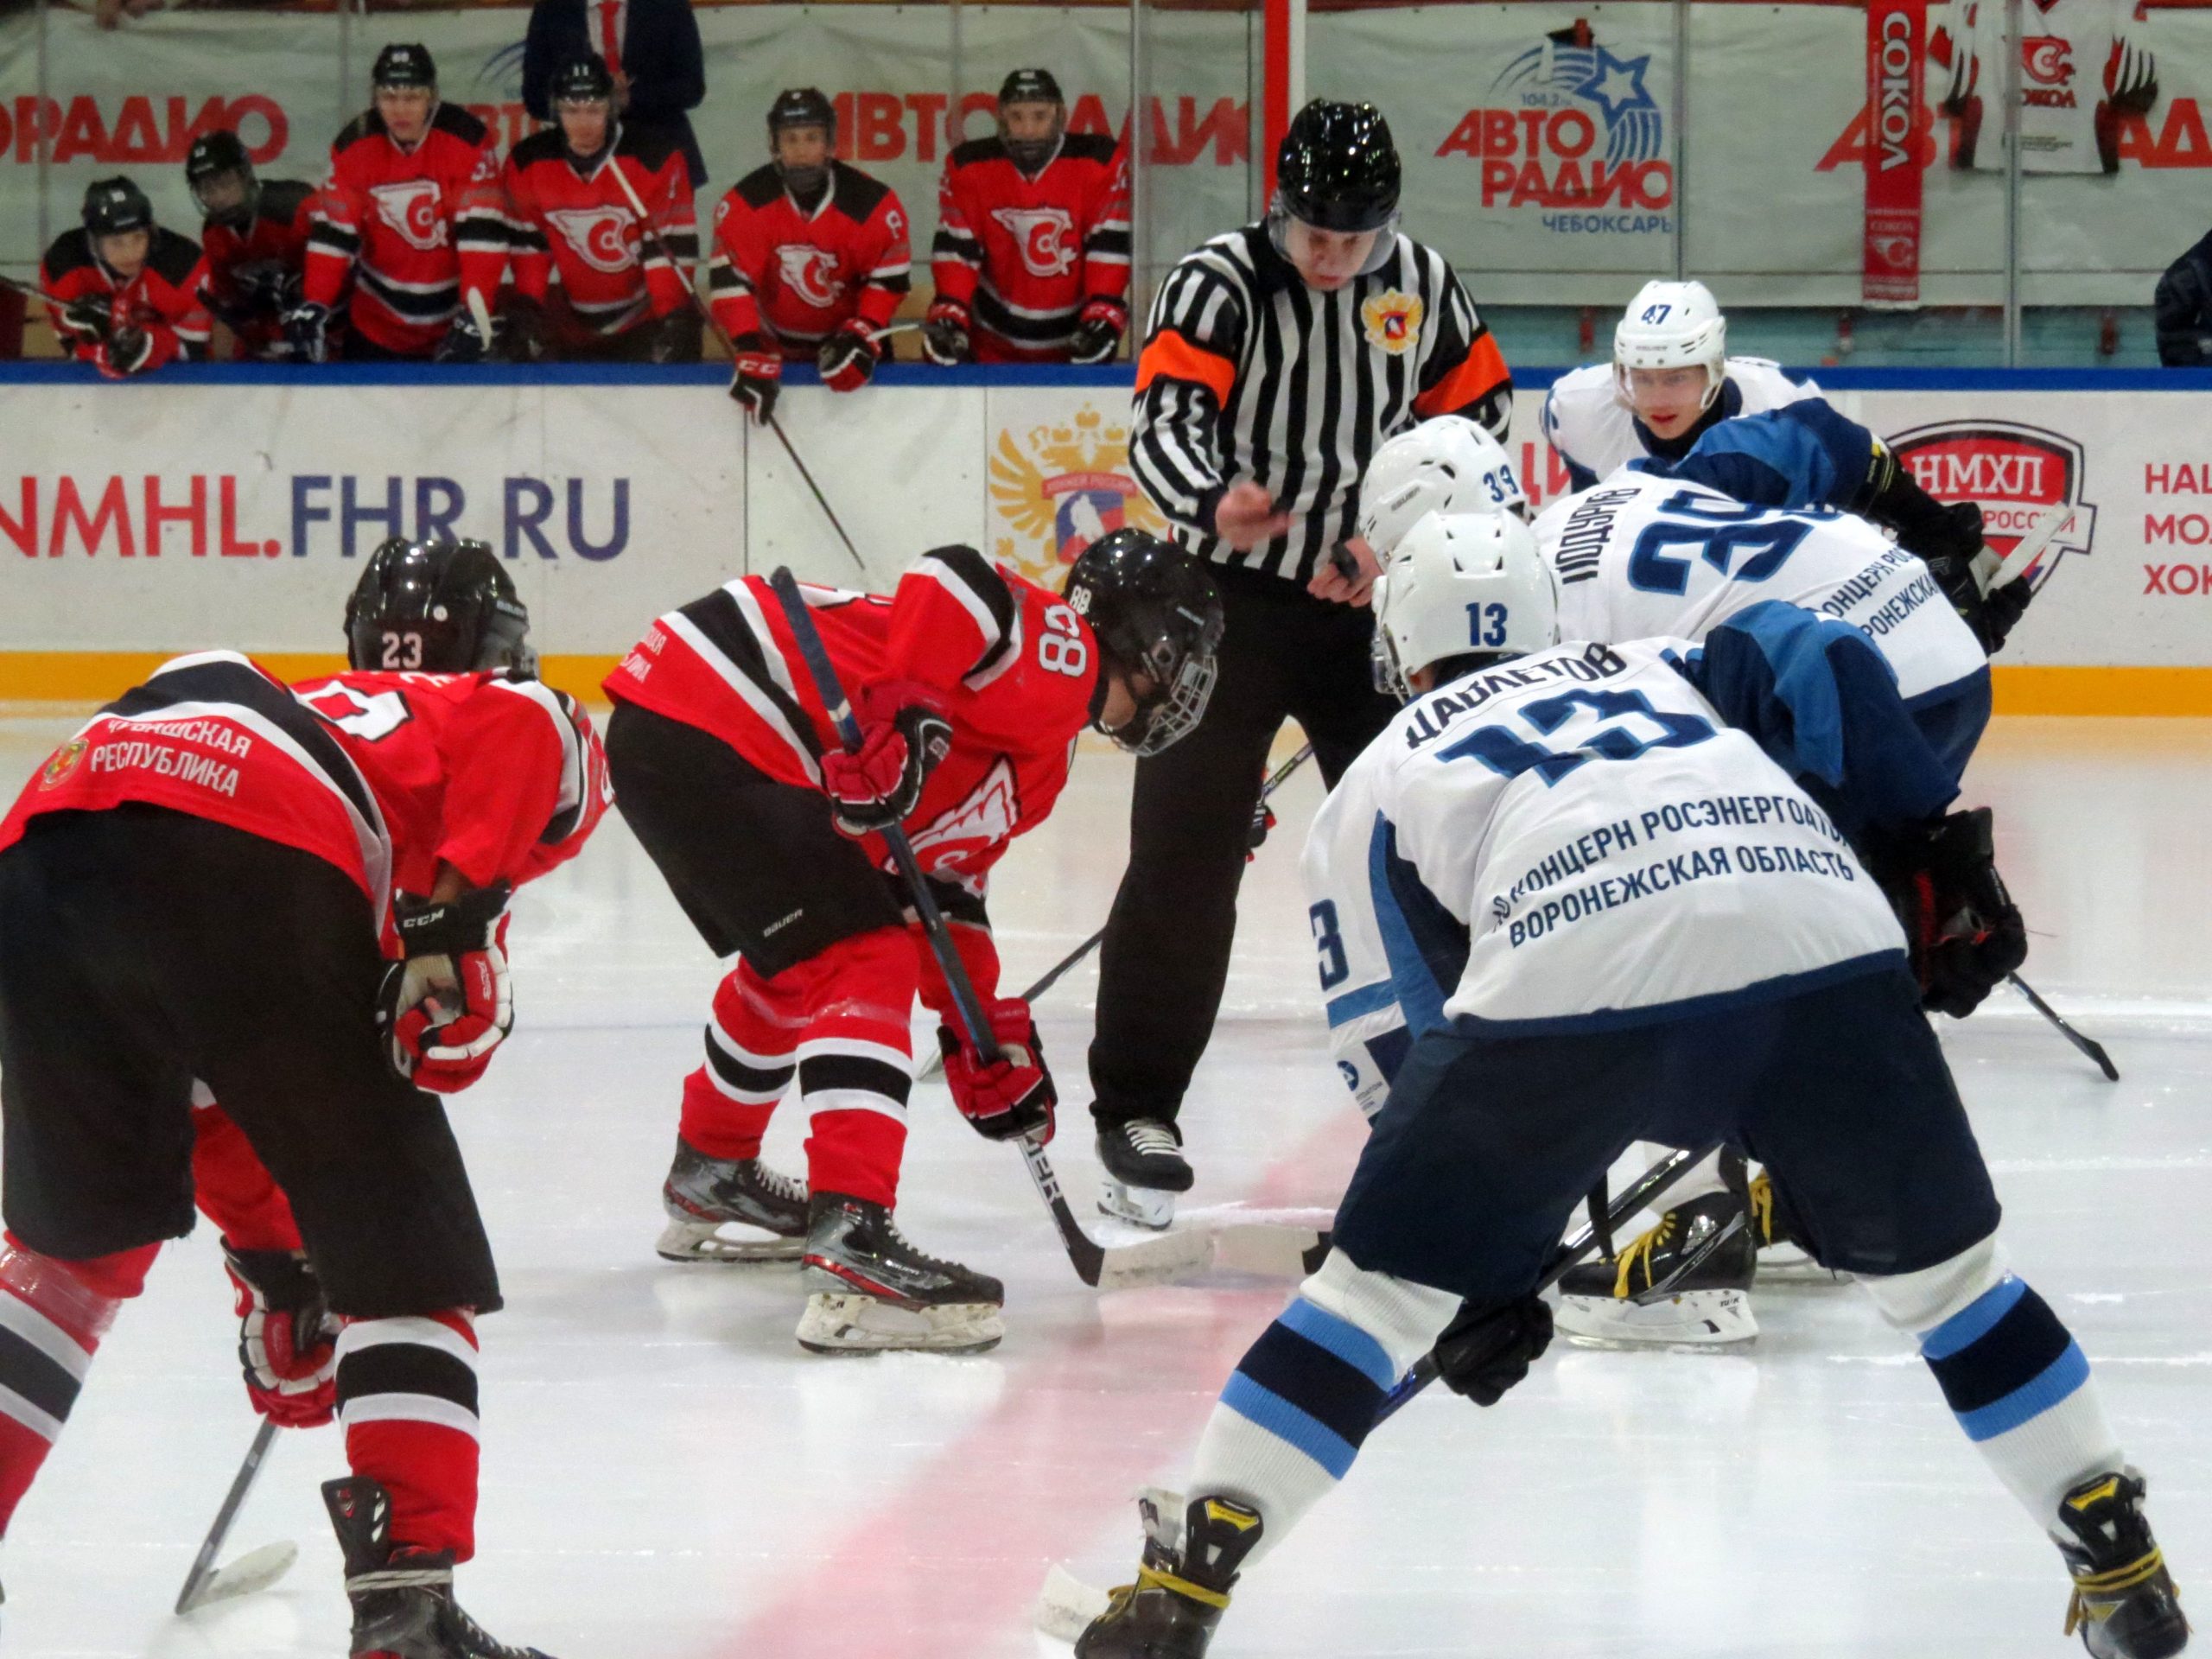
{"label": "rightmost red-jerseyed player on the bench", "polygon": [[1060,82],[1018,69],[998,135],[945,157],[931,363],[1106,363],[1128,330],[1128,159],[1068,133]]}

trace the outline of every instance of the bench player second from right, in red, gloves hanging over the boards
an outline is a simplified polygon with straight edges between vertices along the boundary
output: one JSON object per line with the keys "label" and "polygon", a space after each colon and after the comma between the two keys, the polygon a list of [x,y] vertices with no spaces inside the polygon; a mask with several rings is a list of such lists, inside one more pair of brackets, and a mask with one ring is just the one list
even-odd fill
{"label": "bench player second from right, in red, gloves hanging over the boards", "polygon": [[768,106],[768,166],[714,208],[708,294],[737,345],[730,396],[765,422],[783,365],[814,363],[832,392],[858,392],[883,361],[876,338],[911,283],[898,192],[834,159],[836,108],[812,86]]}

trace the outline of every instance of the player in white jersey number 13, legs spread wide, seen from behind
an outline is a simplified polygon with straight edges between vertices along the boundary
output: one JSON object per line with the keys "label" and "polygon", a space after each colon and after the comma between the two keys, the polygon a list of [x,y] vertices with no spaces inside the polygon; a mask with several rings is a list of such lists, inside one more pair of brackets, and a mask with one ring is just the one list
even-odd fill
{"label": "player in white jersey number 13, legs spread wide, seen from behind", "polygon": [[[1418,695],[1307,843],[1338,1055],[1394,1077],[1334,1252],[1237,1365],[1188,1511],[1150,1517],[1077,1659],[1199,1659],[1422,1354],[1478,1405],[1526,1376],[1551,1338],[1544,1261],[1639,1137],[1765,1157],[2059,1546],[2068,1630],[2097,1659],[2181,1652],[2143,1480],[2081,1349],[2006,1270],[1905,936],[1845,838],[1931,845],[1953,792],[1887,664],[1785,604],[1703,646],[1555,644],[1524,524],[1416,538],[1376,608]],[[1438,1022],[1391,1066],[1360,1022],[1427,1000]]]}

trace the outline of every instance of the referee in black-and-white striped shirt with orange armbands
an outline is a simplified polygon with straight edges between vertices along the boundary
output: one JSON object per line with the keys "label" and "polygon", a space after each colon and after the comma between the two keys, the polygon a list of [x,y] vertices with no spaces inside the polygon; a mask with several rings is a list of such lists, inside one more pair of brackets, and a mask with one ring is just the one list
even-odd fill
{"label": "referee in black-and-white striped shirt with orange armbands", "polygon": [[1460,279],[1398,232],[1398,175],[1380,111],[1307,104],[1267,217],[1168,272],[1137,358],[1130,465],[1212,564],[1228,622],[1206,719],[1137,763],[1099,958],[1102,1208],[1148,1225],[1190,1190],[1175,1119],[1221,1006],[1274,734],[1296,719],[1334,785],[1396,712],[1369,670],[1376,557],[1354,535],[1367,458],[1431,416],[1502,440],[1513,409]]}

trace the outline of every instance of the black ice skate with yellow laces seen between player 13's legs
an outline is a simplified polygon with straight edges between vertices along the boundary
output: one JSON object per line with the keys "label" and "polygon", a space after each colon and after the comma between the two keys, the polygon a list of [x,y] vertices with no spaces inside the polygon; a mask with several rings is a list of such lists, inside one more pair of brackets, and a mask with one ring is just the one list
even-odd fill
{"label": "black ice skate with yellow laces seen between player 13's legs", "polygon": [[1705,1192],[1610,1261],[1559,1281],[1559,1334],[1582,1347],[1739,1347],[1759,1336],[1750,1206]]}

